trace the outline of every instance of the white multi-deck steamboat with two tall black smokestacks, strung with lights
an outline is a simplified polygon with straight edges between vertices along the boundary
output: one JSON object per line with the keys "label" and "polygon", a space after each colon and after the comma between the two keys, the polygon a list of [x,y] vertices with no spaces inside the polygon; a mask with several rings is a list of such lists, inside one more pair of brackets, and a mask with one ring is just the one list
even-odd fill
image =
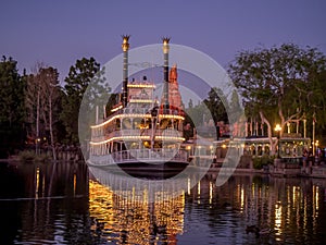
{"label": "white multi-deck steamboat with two tall black smokestacks, strung with lights", "polygon": [[[123,36],[123,83],[120,101],[101,123],[91,125],[88,164],[124,171],[162,173],[181,171],[188,155],[181,144],[185,112],[178,90],[177,68],[168,68],[170,38],[163,38],[163,91],[146,76],[128,78],[129,36]],[[128,173],[129,173],[128,172]]]}

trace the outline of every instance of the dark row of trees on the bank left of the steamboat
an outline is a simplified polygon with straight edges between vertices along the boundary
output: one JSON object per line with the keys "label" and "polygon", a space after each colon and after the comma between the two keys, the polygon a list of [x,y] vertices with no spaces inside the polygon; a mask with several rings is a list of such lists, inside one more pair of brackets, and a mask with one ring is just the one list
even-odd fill
{"label": "dark row of trees on the bank left of the steamboat", "polygon": [[[83,95],[100,73],[93,58],[71,66],[64,87],[55,68],[38,63],[30,74],[17,71],[17,61],[0,62],[0,158],[23,149],[53,150],[78,146],[78,112]],[[110,90],[110,89],[108,89]]]}

